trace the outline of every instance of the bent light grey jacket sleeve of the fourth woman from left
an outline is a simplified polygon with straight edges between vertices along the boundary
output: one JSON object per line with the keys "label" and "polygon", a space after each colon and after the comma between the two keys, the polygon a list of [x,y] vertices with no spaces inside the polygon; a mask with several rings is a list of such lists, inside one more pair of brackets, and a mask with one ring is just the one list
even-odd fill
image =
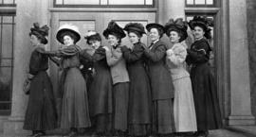
{"label": "bent light grey jacket sleeve of the fourth woman from left", "polygon": [[116,65],[119,62],[119,60],[121,60],[121,57],[122,57],[122,53],[120,48],[118,48],[114,52],[111,52],[110,50],[106,51],[106,60],[109,66]]}

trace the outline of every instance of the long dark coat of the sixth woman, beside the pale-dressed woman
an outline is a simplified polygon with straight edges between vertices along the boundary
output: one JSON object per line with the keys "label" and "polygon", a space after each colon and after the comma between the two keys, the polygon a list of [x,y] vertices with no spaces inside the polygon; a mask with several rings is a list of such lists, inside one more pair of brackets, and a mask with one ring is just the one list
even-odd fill
{"label": "long dark coat of the sixth woman, beside the pale-dressed woman", "polygon": [[148,60],[148,73],[154,100],[174,98],[174,83],[165,62],[166,50],[165,43],[158,41],[149,52],[144,52]]}

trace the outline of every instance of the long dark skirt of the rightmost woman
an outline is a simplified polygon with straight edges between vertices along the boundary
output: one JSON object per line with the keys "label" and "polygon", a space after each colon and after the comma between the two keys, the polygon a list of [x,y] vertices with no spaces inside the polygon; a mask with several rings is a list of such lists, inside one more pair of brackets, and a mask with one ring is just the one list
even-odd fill
{"label": "long dark skirt of the rightmost woman", "polygon": [[209,64],[192,67],[191,78],[197,130],[221,128],[218,94]]}

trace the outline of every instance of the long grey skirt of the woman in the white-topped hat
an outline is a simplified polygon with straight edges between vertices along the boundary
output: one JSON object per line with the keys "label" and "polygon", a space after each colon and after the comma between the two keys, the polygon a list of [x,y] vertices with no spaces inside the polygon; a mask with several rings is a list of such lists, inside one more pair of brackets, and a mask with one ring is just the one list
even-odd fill
{"label": "long grey skirt of the woman in the white-topped hat", "polygon": [[86,83],[78,68],[69,68],[64,80],[61,128],[90,126]]}

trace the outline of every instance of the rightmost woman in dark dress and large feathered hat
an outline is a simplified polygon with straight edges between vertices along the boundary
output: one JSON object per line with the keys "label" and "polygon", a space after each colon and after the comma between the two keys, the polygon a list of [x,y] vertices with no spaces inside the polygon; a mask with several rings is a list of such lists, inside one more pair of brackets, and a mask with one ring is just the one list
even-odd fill
{"label": "rightmost woman in dark dress and large feathered hat", "polygon": [[186,61],[192,66],[192,91],[196,112],[197,135],[208,135],[209,129],[221,128],[221,113],[213,75],[210,72],[209,57],[210,29],[206,18],[194,16],[192,27],[195,42],[187,50]]}

